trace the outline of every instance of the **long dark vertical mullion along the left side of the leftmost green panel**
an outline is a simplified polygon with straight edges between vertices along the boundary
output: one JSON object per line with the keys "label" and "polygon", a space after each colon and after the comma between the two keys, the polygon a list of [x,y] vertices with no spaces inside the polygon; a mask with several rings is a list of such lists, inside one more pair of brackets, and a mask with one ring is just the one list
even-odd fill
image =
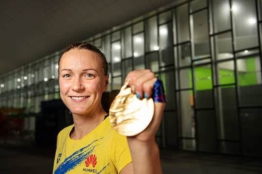
{"label": "long dark vertical mullion along the left side of the leftmost green panel", "polygon": [[[195,120],[195,139],[196,139],[196,151],[198,152],[199,151],[199,144],[198,144],[198,131],[197,131],[197,128],[198,128],[198,124],[197,124],[197,117],[196,117],[196,88],[195,88],[195,73],[194,73],[194,65],[193,65],[193,56],[195,55],[195,47],[194,47],[194,39],[193,39],[193,33],[194,33],[194,29],[192,29],[193,27],[193,15],[190,14],[190,8],[191,8],[191,5],[190,3],[188,3],[188,22],[189,22],[189,38],[190,38],[190,58],[191,58],[191,75],[192,75],[192,88],[193,88],[193,99],[194,99],[194,105],[193,105],[193,109],[194,109],[194,120]],[[191,26],[192,24],[192,26]]]}

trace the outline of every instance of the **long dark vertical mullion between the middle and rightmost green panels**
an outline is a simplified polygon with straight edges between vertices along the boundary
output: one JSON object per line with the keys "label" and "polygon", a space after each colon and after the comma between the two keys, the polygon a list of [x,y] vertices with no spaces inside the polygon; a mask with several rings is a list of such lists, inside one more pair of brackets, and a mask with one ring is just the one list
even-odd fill
{"label": "long dark vertical mullion between the middle and rightmost green panels", "polygon": [[[230,9],[232,9],[232,0],[229,0]],[[237,114],[238,114],[238,123],[239,123],[239,139],[240,139],[240,148],[241,154],[243,155],[243,145],[242,145],[242,122],[240,118],[240,91],[239,91],[239,83],[238,83],[238,67],[237,67],[237,59],[236,59],[236,52],[235,52],[235,37],[234,37],[234,25],[233,25],[233,12],[230,10],[230,25],[231,25],[231,37],[232,37],[232,51],[234,55],[234,68],[235,68],[235,89],[236,89],[236,100],[237,100]]]}

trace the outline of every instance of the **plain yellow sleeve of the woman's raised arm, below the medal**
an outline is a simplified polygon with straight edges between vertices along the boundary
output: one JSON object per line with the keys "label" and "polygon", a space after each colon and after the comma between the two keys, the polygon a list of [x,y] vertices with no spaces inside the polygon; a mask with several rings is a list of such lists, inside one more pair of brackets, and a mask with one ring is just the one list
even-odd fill
{"label": "plain yellow sleeve of the woman's raised arm, below the medal", "polygon": [[110,156],[118,173],[130,162],[132,162],[131,153],[125,136],[115,132],[110,146]]}

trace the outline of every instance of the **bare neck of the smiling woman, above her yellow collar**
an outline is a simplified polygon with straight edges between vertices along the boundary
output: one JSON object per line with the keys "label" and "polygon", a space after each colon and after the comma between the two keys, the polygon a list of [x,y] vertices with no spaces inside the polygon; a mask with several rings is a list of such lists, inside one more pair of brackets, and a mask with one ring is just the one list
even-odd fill
{"label": "bare neck of the smiling woman, above her yellow collar", "polygon": [[94,112],[87,115],[74,115],[74,130],[70,134],[71,139],[82,139],[85,135],[94,130],[106,116],[106,112],[102,109],[95,109]]}

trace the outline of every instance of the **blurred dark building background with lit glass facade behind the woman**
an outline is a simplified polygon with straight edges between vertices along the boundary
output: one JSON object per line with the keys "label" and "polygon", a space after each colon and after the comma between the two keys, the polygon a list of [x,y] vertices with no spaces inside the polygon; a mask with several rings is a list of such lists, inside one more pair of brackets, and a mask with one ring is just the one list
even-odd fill
{"label": "blurred dark building background with lit glass facade behind the woman", "polygon": [[79,41],[106,55],[107,111],[129,71],[163,81],[164,173],[262,173],[262,0],[14,0],[0,20],[0,173],[52,172],[73,123],[58,59]]}

